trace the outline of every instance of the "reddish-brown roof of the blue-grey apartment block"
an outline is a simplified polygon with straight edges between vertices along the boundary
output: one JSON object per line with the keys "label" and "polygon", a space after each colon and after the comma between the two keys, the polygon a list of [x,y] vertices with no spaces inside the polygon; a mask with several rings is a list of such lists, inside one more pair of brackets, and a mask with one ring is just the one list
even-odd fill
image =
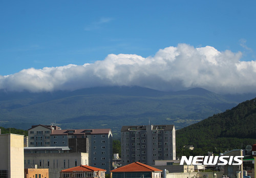
{"label": "reddish-brown roof of the blue-grey apartment block", "polygon": [[[70,132],[69,131],[74,131]],[[110,128],[101,129],[63,129],[63,130],[52,130],[51,135],[91,135],[91,134],[109,134]]]}

